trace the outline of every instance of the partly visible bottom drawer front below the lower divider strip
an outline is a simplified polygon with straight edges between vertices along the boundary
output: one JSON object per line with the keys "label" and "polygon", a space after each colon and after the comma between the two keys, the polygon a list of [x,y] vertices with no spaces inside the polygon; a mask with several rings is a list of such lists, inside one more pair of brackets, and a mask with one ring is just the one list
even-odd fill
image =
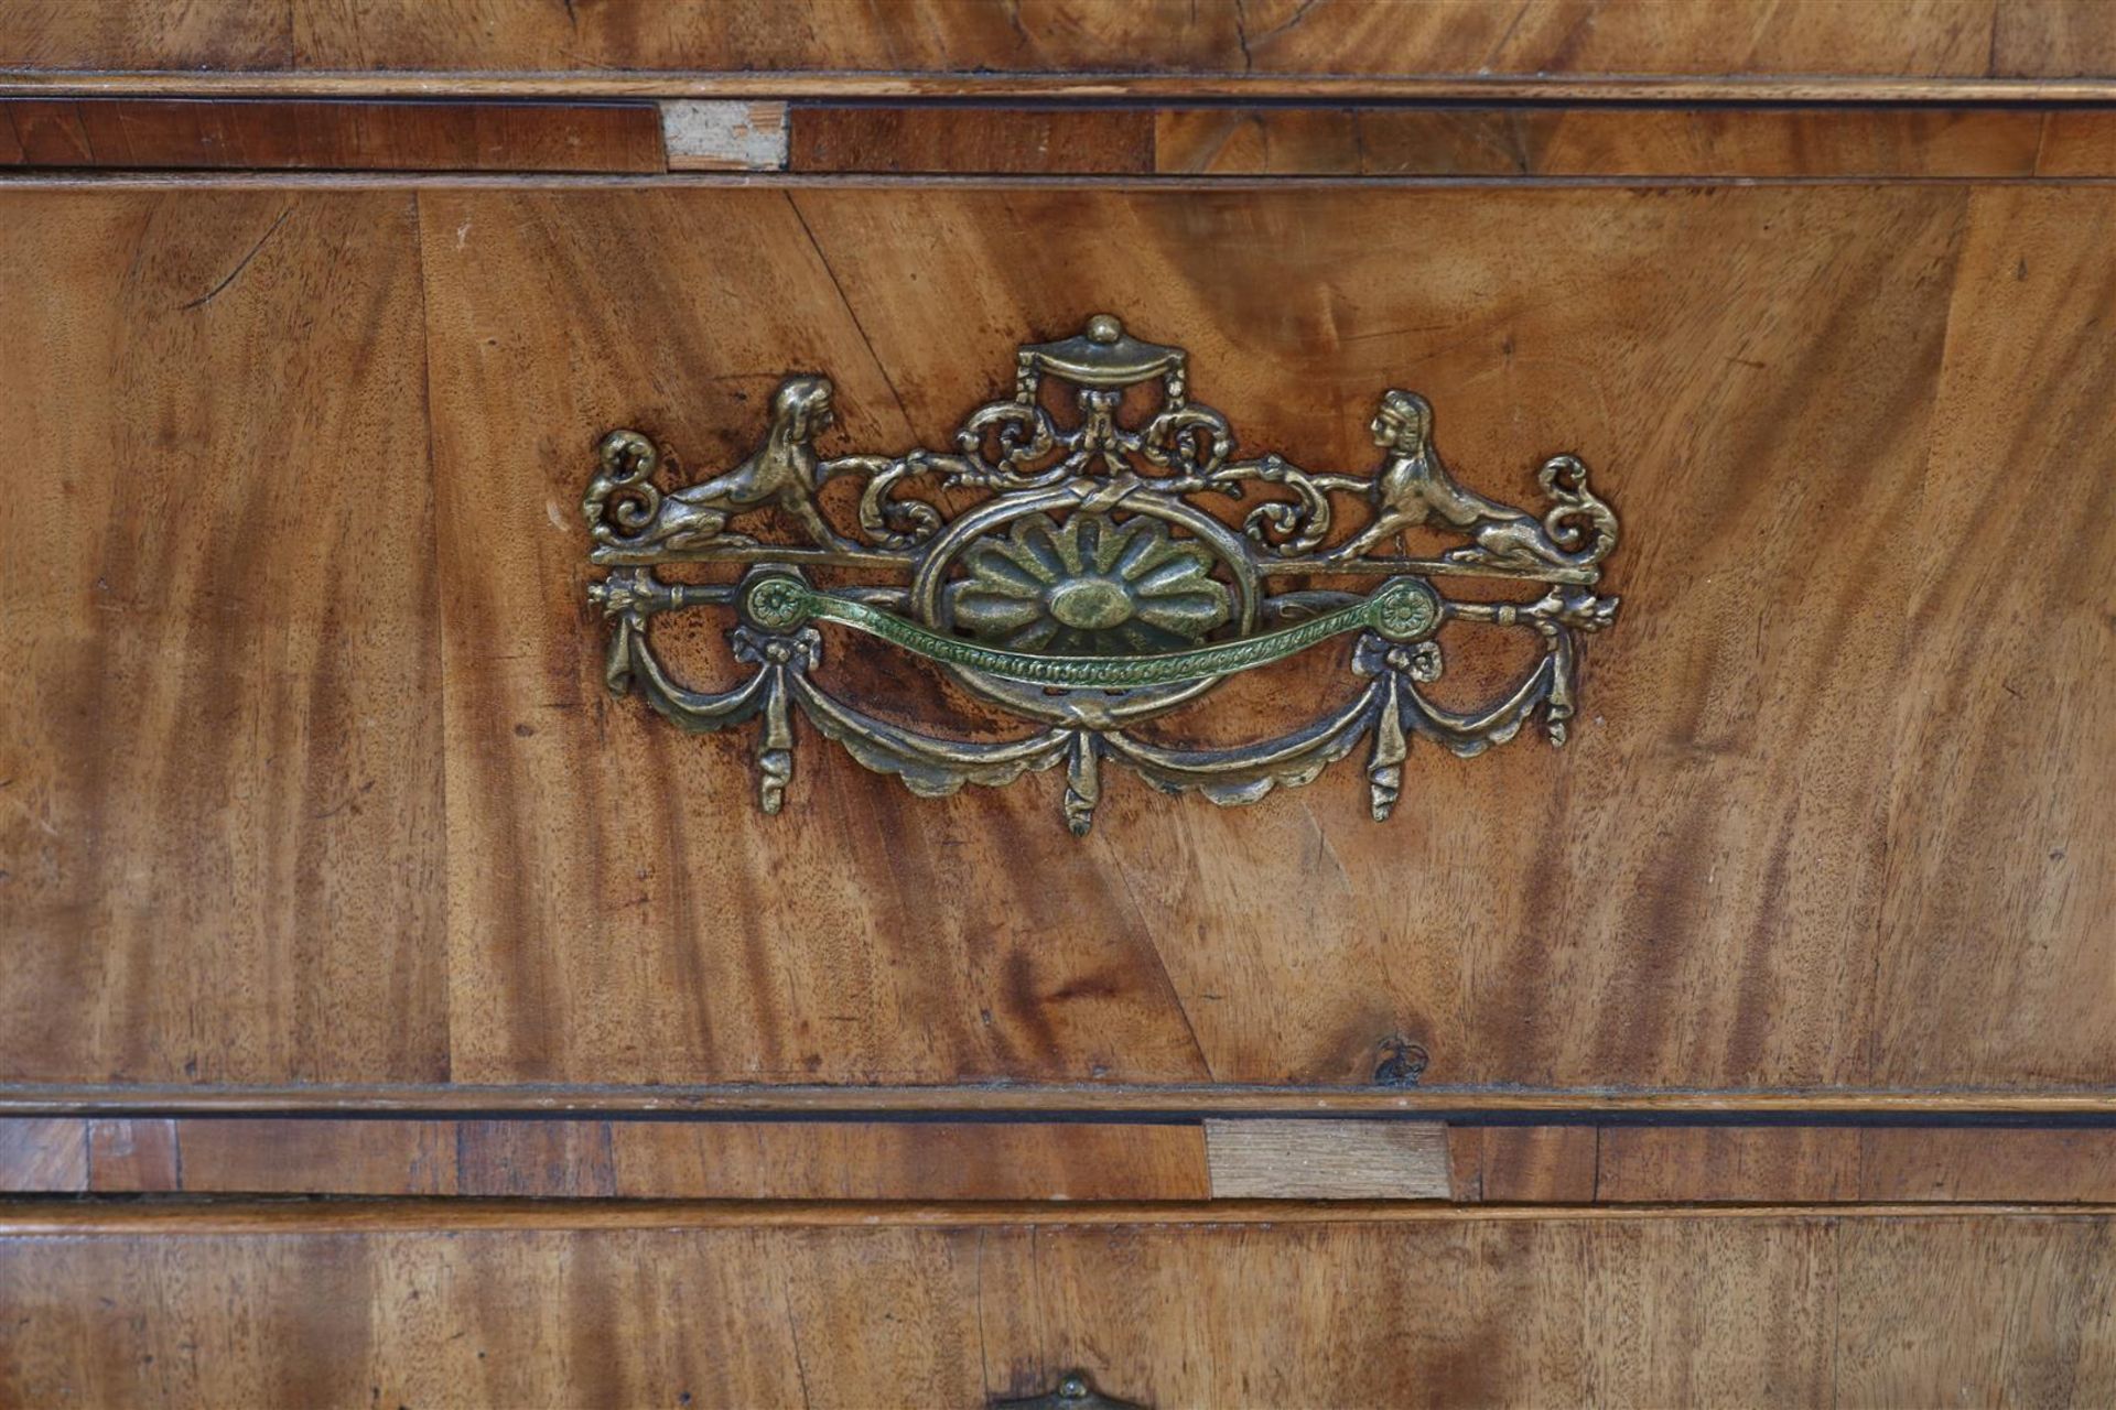
{"label": "partly visible bottom drawer front below the lower divider strip", "polygon": [[1073,1366],[1164,1406],[2116,1393],[2108,1216],[118,1228],[0,1241],[0,1393],[910,1406]]}

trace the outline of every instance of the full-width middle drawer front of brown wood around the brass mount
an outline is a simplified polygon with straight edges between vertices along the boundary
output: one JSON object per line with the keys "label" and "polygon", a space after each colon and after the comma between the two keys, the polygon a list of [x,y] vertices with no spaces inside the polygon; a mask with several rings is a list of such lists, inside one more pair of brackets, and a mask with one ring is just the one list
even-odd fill
{"label": "full-width middle drawer front of brown wood around the brass mount", "polygon": [[[4,192],[0,1072],[2108,1082],[2112,226],[1921,184]],[[1583,457],[1623,619],[1570,744],[1413,740],[1380,824],[1356,765],[1253,808],[1111,772],[1073,837],[1058,774],[914,797],[798,719],[766,816],[753,738],[609,695],[605,431],[705,478],[819,372],[823,452],[946,448],[1105,311],[1251,454],[1367,474],[1407,387],[1498,499]],[[703,683],[719,626],[669,634]],[[1003,729],[825,643],[876,715]],[[1267,736],[1348,651],[1155,729]]]}

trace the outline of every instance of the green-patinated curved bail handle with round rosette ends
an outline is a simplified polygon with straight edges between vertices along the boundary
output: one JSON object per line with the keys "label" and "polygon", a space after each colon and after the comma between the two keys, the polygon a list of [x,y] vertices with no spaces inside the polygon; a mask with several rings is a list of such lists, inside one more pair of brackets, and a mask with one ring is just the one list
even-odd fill
{"label": "green-patinated curved bail handle with round rosette ends", "polygon": [[1111,691],[1136,689],[1141,685],[1170,685],[1176,681],[1204,681],[1208,676],[1248,670],[1251,666],[1270,666],[1358,628],[1380,632],[1390,641],[1420,641],[1430,636],[1441,624],[1439,594],[1409,577],[1382,583],[1352,607],[1342,607],[1308,621],[1295,621],[1276,632],[1259,632],[1240,641],[1155,655],[1035,655],[1030,651],[982,647],[961,636],[929,632],[895,613],[838,598],[802,583],[798,577],[781,575],[751,579],[743,592],[743,611],[751,621],[774,632],[794,630],[808,619],[836,621],[870,636],[880,636],[906,651],[916,651],[923,657],[1005,676],[1007,681]]}

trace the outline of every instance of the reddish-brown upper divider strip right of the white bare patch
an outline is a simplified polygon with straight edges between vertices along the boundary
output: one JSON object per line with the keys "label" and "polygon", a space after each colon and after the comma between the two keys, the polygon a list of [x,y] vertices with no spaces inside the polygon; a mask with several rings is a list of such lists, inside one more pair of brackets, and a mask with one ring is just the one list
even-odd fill
{"label": "reddish-brown upper divider strip right of the white bare patch", "polygon": [[[673,108],[743,108],[673,104]],[[732,120],[732,118],[730,118]],[[791,104],[791,171],[1083,175],[2116,175],[2116,112],[1866,106]],[[681,163],[679,163],[681,165]]]}

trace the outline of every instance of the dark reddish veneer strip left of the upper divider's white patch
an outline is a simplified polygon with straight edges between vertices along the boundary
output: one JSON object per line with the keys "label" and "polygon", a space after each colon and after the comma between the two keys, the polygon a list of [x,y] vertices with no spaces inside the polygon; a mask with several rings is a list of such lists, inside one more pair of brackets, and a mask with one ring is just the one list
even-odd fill
{"label": "dark reddish veneer strip left of the upper divider's white patch", "polygon": [[0,101],[0,167],[662,171],[650,104]]}

